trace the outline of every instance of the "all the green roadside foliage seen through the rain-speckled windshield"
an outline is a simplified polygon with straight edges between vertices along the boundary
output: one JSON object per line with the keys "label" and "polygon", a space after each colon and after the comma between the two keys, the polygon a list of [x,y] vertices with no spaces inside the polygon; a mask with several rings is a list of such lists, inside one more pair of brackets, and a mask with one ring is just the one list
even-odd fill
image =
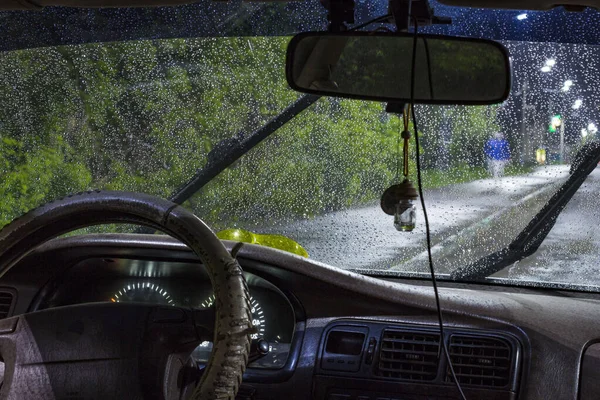
{"label": "all the green roadside foliage seen through the rain-speckled windshield", "polygon": [[[215,145],[249,134],[298,98],[283,74],[288,40],[171,39],[0,55],[0,225],[92,188],[168,197]],[[452,143],[467,143],[452,148],[457,160],[481,158],[493,119],[486,112],[452,110],[463,121]],[[422,137],[437,125],[425,124]],[[400,131],[381,104],[323,98],[186,205],[227,228],[375,201],[396,178]]]}

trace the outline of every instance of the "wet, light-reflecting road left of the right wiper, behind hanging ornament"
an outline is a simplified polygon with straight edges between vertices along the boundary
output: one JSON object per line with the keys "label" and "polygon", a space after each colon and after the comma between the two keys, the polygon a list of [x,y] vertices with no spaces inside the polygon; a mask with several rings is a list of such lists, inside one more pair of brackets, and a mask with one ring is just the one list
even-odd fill
{"label": "wet, light-reflecting road left of the right wiper, behind hanging ornament", "polygon": [[[436,268],[445,272],[476,259],[478,254],[473,249],[484,242],[484,252],[508,243],[567,174],[567,166],[549,166],[527,175],[426,191]],[[510,213],[511,208],[519,210],[519,215]],[[374,204],[276,230],[298,241],[311,258],[341,268],[426,271],[423,221],[419,205],[417,228],[411,233],[398,232],[393,218]],[[499,229],[494,221],[503,221],[504,225]],[[597,221],[600,225],[600,219]]]}

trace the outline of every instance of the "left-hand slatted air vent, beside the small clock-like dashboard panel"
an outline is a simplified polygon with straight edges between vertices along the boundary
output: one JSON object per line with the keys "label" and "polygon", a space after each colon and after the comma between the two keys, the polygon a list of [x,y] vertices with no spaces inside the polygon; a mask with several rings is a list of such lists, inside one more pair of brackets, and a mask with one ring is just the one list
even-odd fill
{"label": "left-hand slatted air vent, beside the small clock-like dashboard panel", "polygon": [[377,373],[386,378],[432,381],[438,372],[440,335],[385,330]]}

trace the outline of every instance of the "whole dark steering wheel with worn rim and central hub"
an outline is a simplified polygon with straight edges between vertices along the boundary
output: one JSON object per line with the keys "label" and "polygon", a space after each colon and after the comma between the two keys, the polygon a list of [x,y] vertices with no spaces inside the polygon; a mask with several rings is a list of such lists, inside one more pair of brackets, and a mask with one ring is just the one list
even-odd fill
{"label": "whole dark steering wheel with worn rim and central hub", "polygon": [[[237,261],[183,207],[104,191],[45,204],[0,231],[0,274],[50,239],[106,223],[148,226],[185,243],[208,271],[215,309],[90,303],[0,320],[0,398],[234,399],[253,332],[248,289]],[[203,341],[213,341],[212,355],[186,386],[196,371],[186,363]]]}

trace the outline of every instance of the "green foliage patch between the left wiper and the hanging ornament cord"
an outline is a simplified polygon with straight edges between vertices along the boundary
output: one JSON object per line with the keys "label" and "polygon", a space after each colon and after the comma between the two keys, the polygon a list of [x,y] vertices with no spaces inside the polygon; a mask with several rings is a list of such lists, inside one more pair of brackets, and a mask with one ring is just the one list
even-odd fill
{"label": "green foliage patch between the left wiper and the hanging ornament cord", "polygon": [[221,174],[192,208],[221,228],[373,201],[392,182],[397,160],[399,121],[380,116],[376,103],[323,99]]}

